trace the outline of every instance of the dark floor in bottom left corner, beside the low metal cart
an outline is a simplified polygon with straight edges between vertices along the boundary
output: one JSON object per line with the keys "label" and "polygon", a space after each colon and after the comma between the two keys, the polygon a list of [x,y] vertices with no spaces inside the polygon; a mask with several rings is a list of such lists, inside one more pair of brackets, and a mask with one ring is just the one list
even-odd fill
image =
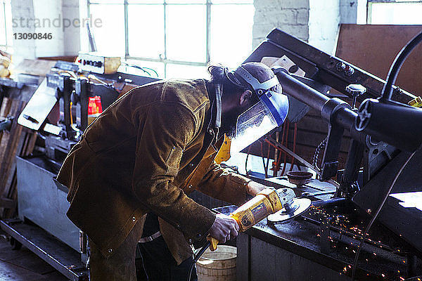
{"label": "dark floor in bottom left corner, beside the low metal cart", "polygon": [[48,263],[23,246],[13,250],[0,230],[0,281],[68,280]]}

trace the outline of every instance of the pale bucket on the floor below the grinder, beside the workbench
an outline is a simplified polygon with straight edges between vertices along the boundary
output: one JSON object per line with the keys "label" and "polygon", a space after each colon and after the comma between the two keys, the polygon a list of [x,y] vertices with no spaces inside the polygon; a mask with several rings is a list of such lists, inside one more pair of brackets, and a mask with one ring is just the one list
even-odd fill
{"label": "pale bucket on the floor below the grinder, beside the workbench", "polygon": [[196,263],[198,281],[235,281],[236,247],[219,245],[217,250],[207,251]]}

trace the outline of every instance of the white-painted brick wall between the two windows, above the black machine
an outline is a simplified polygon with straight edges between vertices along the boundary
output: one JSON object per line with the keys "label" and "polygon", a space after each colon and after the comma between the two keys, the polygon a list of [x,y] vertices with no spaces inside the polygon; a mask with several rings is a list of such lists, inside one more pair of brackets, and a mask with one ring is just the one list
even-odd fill
{"label": "white-painted brick wall between the two windows, above the black machine", "polygon": [[357,15],[365,12],[358,6],[365,8],[366,0],[255,0],[254,5],[254,48],[274,27],[278,27],[333,53],[338,25],[357,23]]}

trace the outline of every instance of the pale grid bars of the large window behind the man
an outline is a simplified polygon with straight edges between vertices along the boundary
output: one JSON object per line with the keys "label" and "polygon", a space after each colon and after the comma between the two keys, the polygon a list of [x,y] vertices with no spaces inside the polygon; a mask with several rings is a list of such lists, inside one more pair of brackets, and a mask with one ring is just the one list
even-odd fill
{"label": "pale grid bars of the large window behind the man", "polygon": [[[117,2],[117,1],[116,1]],[[152,63],[163,63],[164,67],[164,76],[167,77],[167,65],[188,65],[188,66],[196,66],[196,67],[206,67],[207,63],[210,62],[210,34],[211,34],[211,8],[212,6],[217,5],[252,5],[252,3],[239,3],[238,1],[229,1],[228,3],[212,3],[212,0],[205,0],[205,3],[195,3],[195,5],[205,5],[206,6],[206,19],[205,19],[205,27],[206,27],[206,34],[205,34],[205,62],[194,62],[189,60],[171,60],[167,58],[167,6],[184,6],[184,5],[191,5],[193,3],[167,3],[167,0],[163,0],[163,3],[129,3],[129,0],[123,0],[122,3],[98,3],[95,0],[87,0],[87,14],[90,15],[90,6],[91,5],[124,5],[124,59],[125,60],[139,60],[139,61],[146,61]],[[139,6],[147,6],[147,5],[155,5],[155,6],[163,6],[163,13],[164,13],[164,54],[163,58],[148,58],[148,57],[139,57],[130,55],[129,53],[129,21],[128,21],[128,8],[129,5],[139,5]]]}

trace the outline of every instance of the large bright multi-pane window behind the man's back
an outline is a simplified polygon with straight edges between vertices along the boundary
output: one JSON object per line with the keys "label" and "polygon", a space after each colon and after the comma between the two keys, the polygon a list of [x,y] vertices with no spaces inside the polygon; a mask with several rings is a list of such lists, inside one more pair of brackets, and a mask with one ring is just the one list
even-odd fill
{"label": "large bright multi-pane window behind the man's back", "polygon": [[[207,77],[209,61],[236,67],[252,51],[253,0],[88,0],[98,51],[160,77]],[[147,69],[146,69],[147,70]]]}

